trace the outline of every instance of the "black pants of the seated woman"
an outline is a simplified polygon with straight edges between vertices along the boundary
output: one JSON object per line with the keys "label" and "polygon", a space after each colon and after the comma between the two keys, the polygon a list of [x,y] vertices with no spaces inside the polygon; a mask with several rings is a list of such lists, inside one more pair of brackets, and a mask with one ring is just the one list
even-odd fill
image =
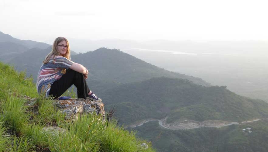
{"label": "black pants of the seated woman", "polygon": [[53,82],[49,95],[58,98],[72,85],[77,88],[77,98],[86,99],[88,92],[90,92],[86,79],[83,74],[72,69],[68,69],[59,80]]}

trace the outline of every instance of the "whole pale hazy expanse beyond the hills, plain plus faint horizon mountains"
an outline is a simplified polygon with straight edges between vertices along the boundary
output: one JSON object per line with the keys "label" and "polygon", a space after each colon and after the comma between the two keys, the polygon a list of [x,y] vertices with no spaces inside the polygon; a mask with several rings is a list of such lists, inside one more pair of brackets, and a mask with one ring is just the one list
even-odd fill
{"label": "whole pale hazy expanse beyond the hills, plain plus faint horizon mountains", "polygon": [[[74,51],[115,48],[169,71],[199,77],[211,85],[268,101],[268,42],[77,40]],[[50,41],[52,43],[52,41]]]}

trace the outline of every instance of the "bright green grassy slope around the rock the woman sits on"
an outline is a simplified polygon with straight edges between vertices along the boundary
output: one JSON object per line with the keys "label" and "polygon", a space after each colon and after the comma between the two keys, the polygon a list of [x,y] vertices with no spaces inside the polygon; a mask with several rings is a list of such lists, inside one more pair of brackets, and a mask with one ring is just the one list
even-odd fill
{"label": "bright green grassy slope around the rock the woman sits on", "polygon": [[[53,107],[53,100],[38,95],[32,79],[24,76],[0,62],[0,152],[44,147],[51,151],[154,151],[151,147],[137,147],[146,141],[119,128],[115,121],[102,123],[99,116],[83,114],[76,122],[66,122]],[[37,102],[33,107],[27,106],[19,95],[37,97]],[[36,109],[37,113],[29,109]],[[51,125],[61,126],[67,132],[52,135],[42,131]]]}

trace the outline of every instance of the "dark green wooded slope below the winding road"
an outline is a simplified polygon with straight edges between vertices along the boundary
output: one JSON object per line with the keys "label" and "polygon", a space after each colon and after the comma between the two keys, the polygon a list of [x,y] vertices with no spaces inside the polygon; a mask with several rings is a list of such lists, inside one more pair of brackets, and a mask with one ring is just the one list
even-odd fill
{"label": "dark green wooded slope below the winding road", "polygon": [[[268,120],[222,128],[167,130],[157,122],[136,127],[137,135],[151,140],[159,152],[266,152]],[[252,133],[242,129],[251,128]]]}

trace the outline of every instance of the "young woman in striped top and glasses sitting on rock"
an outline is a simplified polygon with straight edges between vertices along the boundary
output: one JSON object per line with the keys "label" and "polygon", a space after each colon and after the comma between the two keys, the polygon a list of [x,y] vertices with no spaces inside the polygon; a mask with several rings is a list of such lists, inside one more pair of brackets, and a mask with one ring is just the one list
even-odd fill
{"label": "young woman in striped top and glasses sitting on rock", "polygon": [[74,85],[77,88],[77,98],[89,98],[101,102],[101,98],[89,90],[85,80],[87,78],[88,69],[71,61],[68,40],[58,37],[53,43],[52,51],[43,60],[37,76],[36,88],[39,94],[58,98]]}

